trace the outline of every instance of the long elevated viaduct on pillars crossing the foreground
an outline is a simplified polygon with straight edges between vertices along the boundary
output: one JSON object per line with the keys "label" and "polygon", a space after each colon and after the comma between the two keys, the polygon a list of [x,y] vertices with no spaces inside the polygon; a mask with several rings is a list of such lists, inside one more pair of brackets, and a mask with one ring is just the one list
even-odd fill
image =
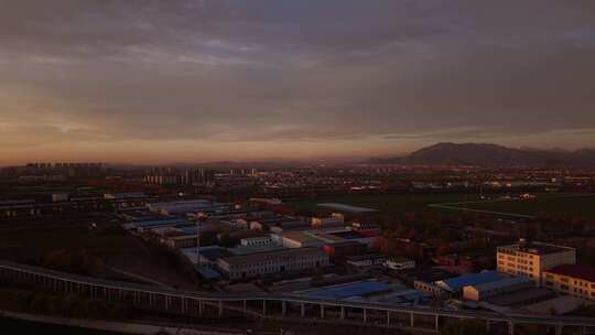
{"label": "long elevated viaduct on pillars crossing the foreground", "polygon": [[312,299],[289,294],[202,293],[71,274],[0,261],[0,282],[90,299],[120,301],[136,309],[195,317],[248,316],[310,323],[342,323],[439,333],[447,321],[480,320],[516,334],[519,325],[544,325],[555,334],[595,334],[595,318],[450,311],[385,303]]}

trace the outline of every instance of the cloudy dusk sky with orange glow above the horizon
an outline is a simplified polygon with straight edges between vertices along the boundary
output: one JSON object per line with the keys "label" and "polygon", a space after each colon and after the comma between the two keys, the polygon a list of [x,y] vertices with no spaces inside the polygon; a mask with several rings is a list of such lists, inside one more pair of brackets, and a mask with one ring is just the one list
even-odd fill
{"label": "cloudy dusk sky with orange glow above the horizon", "polygon": [[595,147],[592,0],[0,0],[0,164]]}

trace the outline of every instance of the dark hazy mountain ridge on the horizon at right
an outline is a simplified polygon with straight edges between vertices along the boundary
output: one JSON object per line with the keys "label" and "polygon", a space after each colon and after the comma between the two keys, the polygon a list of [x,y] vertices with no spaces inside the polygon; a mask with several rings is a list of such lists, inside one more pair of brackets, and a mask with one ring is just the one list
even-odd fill
{"label": "dark hazy mountain ridge on the horizon at right", "polygon": [[407,156],[374,159],[376,164],[479,166],[595,166],[595,150],[512,149],[489,143],[437,143]]}

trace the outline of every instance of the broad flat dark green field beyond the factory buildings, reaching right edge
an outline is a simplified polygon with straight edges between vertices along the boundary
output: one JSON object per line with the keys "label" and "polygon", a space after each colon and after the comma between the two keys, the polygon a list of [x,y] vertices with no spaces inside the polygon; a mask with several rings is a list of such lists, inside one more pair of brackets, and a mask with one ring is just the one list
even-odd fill
{"label": "broad flat dark green field beyond the factory buildings, reaching right edge", "polygon": [[[501,195],[487,195],[486,198],[498,198]],[[477,194],[346,194],[325,196],[311,201],[290,203],[300,210],[327,213],[331,209],[317,206],[320,203],[340,203],[367,207],[383,213],[400,214],[405,212],[455,212],[454,209],[433,208],[431,204],[452,204],[480,202]],[[537,215],[539,213],[561,214],[576,217],[595,218],[595,195],[538,194],[528,201],[497,201],[456,205],[469,209],[499,213]]]}

